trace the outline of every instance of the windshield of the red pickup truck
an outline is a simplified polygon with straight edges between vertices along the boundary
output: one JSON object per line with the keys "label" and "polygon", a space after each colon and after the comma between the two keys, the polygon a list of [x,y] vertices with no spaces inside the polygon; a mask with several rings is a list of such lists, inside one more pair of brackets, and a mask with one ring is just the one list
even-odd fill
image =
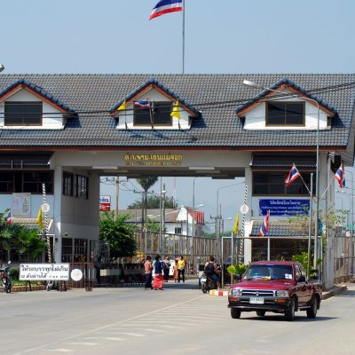
{"label": "windshield of the red pickup truck", "polygon": [[244,280],[292,280],[292,265],[251,264],[245,272]]}

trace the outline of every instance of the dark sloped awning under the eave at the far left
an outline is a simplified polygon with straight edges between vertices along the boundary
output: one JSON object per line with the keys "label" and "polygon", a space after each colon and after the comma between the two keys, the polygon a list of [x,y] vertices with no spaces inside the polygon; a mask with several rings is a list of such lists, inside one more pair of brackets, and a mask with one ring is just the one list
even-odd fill
{"label": "dark sloped awning under the eave at the far left", "polygon": [[51,153],[0,153],[0,169],[50,169]]}

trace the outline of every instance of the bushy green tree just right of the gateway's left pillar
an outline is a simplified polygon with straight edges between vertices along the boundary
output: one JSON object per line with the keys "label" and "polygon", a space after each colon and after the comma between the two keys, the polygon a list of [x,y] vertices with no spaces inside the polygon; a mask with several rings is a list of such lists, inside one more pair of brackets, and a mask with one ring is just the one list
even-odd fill
{"label": "bushy green tree just right of the gateway's left pillar", "polygon": [[134,256],[137,248],[134,240],[133,225],[125,223],[130,217],[128,214],[120,214],[114,220],[112,214],[103,212],[99,221],[100,241],[106,241],[110,247],[111,256]]}

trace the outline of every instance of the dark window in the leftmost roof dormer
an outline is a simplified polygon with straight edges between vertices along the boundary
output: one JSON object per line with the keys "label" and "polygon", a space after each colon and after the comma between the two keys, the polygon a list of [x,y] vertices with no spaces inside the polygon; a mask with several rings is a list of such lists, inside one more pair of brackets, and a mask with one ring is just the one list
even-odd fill
{"label": "dark window in the leftmost roof dormer", "polygon": [[4,124],[13,126],[42,125],[42,101],[5,102]]}

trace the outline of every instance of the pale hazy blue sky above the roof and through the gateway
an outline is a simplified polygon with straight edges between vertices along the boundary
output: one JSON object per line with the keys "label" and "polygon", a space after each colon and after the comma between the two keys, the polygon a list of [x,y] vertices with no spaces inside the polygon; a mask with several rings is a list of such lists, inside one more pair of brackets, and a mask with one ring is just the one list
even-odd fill
{"label": "pale hazy blue sky above the roof and through the gateway", "polygon": [[[149,21],[156,3],[2,0],[4,73],[180,74],[182,13]],[[354,13],[353,0],[185,0],[185,74],[353,73]],[[168,195],[192,206],[193,178],[163,181]],[[240,182],[195,179],[195,204],[204,204],[207,221],[217,214],[219,188],[225,229],[232,228],[243,185],[224,186]],[[138,199],[125,190],[120,209]],[[101,193],[114,197],[114,185]],[[340,201],[349,208],[349,199]]]}

